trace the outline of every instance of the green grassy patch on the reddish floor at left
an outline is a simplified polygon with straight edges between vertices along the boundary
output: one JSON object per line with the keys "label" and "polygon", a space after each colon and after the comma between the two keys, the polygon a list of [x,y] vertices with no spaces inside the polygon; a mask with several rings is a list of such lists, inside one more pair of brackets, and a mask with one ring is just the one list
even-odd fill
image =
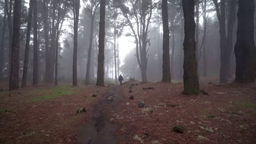
{"label": "green grassy patch on the reddish floor at left", "polygon": [[71,87],[71,86],[57,86],[49,89],[43,89],[44,92],[42,92],[42,89],[36,89],[33,93],[35,94],[43,93],[43,94],[40,96],[33,97],[31,100],[43,101],[43,100],[54,99],[64,95],[71,95],[71,94],[74,94],[77,89],[78,87]]}

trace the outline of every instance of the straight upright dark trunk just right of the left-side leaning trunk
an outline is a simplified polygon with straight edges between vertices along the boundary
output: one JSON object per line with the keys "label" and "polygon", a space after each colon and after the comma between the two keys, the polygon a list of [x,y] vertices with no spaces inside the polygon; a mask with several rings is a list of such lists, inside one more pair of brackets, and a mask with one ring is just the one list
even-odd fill
{"label": "straight upright dark trunk just right of the left-side leaning trunk", "polygon": [[33,86],[38,85],[37,0],[33,2]]}

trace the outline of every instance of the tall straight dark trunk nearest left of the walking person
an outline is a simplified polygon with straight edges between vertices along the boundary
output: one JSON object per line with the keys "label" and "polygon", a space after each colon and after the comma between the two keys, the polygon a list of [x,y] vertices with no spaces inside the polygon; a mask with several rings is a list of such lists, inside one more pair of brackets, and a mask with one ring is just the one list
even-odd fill
{"label": "tall straight dark trunk nearest left of the walking person", "polygon": [[105,40],[105,7],[106,1],[100,2],[100,30],[98,33],[98,71],[97,86],[104,86],[104,40]]}

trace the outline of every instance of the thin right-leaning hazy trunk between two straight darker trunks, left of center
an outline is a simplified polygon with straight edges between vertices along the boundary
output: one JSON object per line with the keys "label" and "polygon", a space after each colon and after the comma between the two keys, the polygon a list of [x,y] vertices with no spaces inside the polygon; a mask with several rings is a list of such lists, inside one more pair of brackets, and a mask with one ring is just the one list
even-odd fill
{"label": "thin right-leaning hazy trunk between two straight darker trunks, left of center", "polygon": [[88,58],[87,58],[87,65],[86,65],[86,74],[85,74],[85,84],[90,84],[90,67],[91,67],[91,50],[92,50],[92,39],[94,36],[94,17],[95,14],[91,14],[91,30],[90,30],[90,42],[88,47]]}

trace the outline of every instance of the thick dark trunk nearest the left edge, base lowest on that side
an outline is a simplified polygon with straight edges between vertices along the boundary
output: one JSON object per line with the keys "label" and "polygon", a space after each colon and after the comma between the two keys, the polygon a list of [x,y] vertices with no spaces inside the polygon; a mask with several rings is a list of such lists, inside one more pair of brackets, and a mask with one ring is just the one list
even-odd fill
{"label": "thick dark trunk nearest the left edge, base lowest on that side", "polygon": [[11,49],[11,69],[9,90],[19,88],[19,49],[20,49],[20,25],[21,25],[21,0],[15,0],[13,25],[13,46]]}

